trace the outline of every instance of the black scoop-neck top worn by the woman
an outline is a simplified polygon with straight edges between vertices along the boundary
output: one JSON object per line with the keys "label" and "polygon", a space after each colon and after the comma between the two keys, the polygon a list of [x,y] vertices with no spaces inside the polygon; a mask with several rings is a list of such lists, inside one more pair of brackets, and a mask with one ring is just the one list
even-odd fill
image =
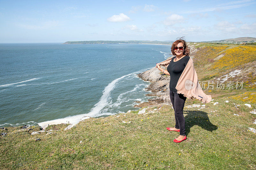
{"label": "black scoop-neck top worn by the woman", "polygon": [[167,71],[170,73],[170,90],[172,90],[173,92],[177,92],[177,89],[175,87],[183,70],[188,64],[188,60],[190,57],[186,55],[176,62],[173,61],[174,58],[175,57],[172,57],[172,60],[167,67]]}

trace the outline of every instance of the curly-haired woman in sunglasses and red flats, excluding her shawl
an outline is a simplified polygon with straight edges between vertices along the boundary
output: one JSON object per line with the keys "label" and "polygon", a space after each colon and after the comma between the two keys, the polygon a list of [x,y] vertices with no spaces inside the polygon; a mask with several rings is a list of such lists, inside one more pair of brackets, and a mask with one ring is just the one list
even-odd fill
{"label": "curly-haired woman in sunglasses and red flats, excluding her shawl", "polygon": [[[172,57],[172,59],[169,59],[167,70],[164,70],[160,67],[160,65],[164,64],[158,63],[156,66],[158,70],[162,71],[164,74],[170,75],[170,99],[174,109],[175,127],[166,129],[180,132],[180,136],[173,140],[173,142],[178,143],[187,139],[185,134],[185,118],[183,115],[183,108],[187,97],[181,93],[177,93],[177,89],[175,87],[190,57],[188,56],[189,48],[187,47],[187,43],[182,39],[173,42],[171,51],[172,55],[176,56]],[[166,66],[166,62],[164,66]]]}

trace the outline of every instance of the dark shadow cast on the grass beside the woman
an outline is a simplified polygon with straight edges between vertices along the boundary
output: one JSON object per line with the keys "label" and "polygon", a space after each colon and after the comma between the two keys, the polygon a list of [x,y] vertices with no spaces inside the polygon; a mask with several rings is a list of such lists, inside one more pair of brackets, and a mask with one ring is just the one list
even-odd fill
{"label": "dark shadow cast on the grass beside the woman", "polygon": [[203,111],[183,111],[184,114],[187,114],[185,117],[185,123],[186,123],[186,134],[188,135],[190,132],[190,128],[194,125],[200,126],[201,128],[213,131],[217,130],[218,127],[214,124],[212,124],[209,120],[208,113]]}

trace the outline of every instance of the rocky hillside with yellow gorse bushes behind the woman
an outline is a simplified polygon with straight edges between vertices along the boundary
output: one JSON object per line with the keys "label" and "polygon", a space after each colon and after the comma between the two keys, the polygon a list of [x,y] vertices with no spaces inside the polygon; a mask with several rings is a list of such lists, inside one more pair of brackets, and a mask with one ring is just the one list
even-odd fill
{"label": "rocky hillside with yellow gorse bushes behind the woman", "polygon": [[[188,43],[188,46],[199,83],[206,94],[213,98],[231,97],[256,103],[256,46],[210,43]],[[148,90],[153,92],[148,95],[157,97],[138,106],[170,103],[169,76],[156,68],[138,76],[148,81],[148,75],[152,77]],[[158,77],[156,81],[153,76]],[[188,99],[188,102],[193,101]]]}

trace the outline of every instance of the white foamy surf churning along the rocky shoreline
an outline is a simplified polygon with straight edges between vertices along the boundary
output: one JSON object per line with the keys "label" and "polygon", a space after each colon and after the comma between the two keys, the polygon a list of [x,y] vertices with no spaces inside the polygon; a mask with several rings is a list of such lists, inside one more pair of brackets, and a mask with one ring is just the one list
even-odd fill
{"label": "white foamy surf churning along the rocky shoreline", "polygon": [[[69,123],[72,125],[76,125],[78,122],[82,121],[84,117],[87,117],[87,116],[100,117],[104,115],[114,115],[119,112],[123,113],[123,111],[119,111],[118,109],[122,108],[122,110],[124,110],[124,107],[130,108],[133,105],[135,105],[135,103],[134,102],[131,103],[130,100],[142,101],[142,102],[146,101],[146,99],[142,100],[140,98],[131,99],[137,96],[136,92],[142,92],[143,91],[142,89],[148,86],[148,82],[143,82],[143,80],[139,79],[136,76],[136,73],[131,73],[131,74],[122,76],[120,78],[116,78],[115,80],[110,82],[104,88],[99,101],[91,108],[89,113],[68,116],[65,118],[55,119],[55,120],[46,121],[46,122],[40,122],[38,124],[40,126],[44,126],[46,124],[51,125],[51,124],[60,124],[60,123]],[[133,87],[131,90],[120,93],[117,89],[115,89],[115,88],[120,88],[120,86],[122,86],[124,83],[133,82],[134,79],[140,82],[140,84],[135,85],[135,87]],[[124,89],[122,91],[124,91]],[[119,93],[119,94],[116,97],[112,93]],[[144,96],[144,94],[141,96]]]}

